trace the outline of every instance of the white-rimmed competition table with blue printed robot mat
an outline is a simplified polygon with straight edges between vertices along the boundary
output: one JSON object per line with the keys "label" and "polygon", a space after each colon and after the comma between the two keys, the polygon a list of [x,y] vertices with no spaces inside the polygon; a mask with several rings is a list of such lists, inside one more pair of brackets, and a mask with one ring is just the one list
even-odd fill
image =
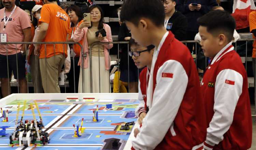
{"label": "white-rimmed competition table with blue printed robot mat", "polygon": [[[76,97],[77,101],[66,101],[67,97]],[[93,98],[93,99],[91,99]],[[41,94],[11,94],[0,100],[0,108],[8,109],[8,122],[0,126],[10,126],[6,129],[7,136],[0,137],[0,149],[5,150],[129,150],[131,140],[134,139],[134,126],[129,130],[120,130],[122,124],[136,122],[134,111],[138,106],[138,93],[41,93]],[[24,106],[24,101],[26,105]],[[37,102],[44,128],[49,133],[50,142],[42,147],[22,146],[10,147],[10,135],[14,131],[17,107],[20,104],[18,122],[25,107],[24,120],[33,120],[30,104],[34,107],[35,117],[40,120],[39,113],[34,105]],[[111,109],[106,104],[112,104]],[[93,109],[98,105],[98,122],[93,122]],[[75,125],[81,125],[83,120],[84,133],[81,137],[73,137]],[[1,131],[1,129],[0,129]],[[113,142],[118,146],[113,147]]]}

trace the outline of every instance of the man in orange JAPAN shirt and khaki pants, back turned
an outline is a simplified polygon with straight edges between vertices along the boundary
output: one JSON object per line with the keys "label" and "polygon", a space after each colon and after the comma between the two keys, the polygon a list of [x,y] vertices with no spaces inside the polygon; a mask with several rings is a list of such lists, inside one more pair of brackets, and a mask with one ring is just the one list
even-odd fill
{"label": "man in orange JAPAN shirt and khaki pants, back turned", "polygon": [[[58,6],[56,0],[43,0],[43,3],[37,42],[65,42],[70,30],[68,14]],[[60,93],[58,77],[67,57],[67,45],[35,45],[35,55],[39,55],[44,92]]]}

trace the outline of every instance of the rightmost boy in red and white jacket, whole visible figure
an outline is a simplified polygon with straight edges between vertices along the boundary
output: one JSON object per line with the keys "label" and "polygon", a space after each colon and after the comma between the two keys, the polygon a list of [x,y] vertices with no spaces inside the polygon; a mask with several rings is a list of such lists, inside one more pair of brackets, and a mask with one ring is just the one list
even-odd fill
{"label": "rightmost boy in red and white jacket, whole visible figure", "polygon": [[231,45],[236,22],[226,11],[198,19],[204,55],[212,58],[201,92],[208,123],[205,150],[245,150],[252,144],[252,117],[247,74]]}

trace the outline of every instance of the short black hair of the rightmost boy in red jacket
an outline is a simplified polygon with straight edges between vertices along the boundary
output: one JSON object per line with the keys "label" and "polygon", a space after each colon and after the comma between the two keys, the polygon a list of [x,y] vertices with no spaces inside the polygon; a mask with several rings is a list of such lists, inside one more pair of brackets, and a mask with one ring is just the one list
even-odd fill
{"label": "short black hair of the rightmost boy in red jacket", "polygon": [[234,29],[236,28],[236,21],[227,11],[210,11],[198,18],[197,22],[200,26],[206,27],[207,32],[213,35],[223,33],[227,36],[229,42],[232,41]]}

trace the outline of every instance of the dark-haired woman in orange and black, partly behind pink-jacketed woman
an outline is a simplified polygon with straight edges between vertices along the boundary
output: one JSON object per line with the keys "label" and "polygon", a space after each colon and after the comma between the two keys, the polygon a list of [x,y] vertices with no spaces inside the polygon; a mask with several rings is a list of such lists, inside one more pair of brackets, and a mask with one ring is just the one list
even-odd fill
{"label": "dark-haired woman in orange and black, partly behind pink-jacketed woman", "polygon": [[[71,31],[69,36],[69,42],[74,42],[73,34],[75,30],[79,27],[83,20],[83,14],[81,10],[76,5],[70,5],[67,7],[67,14],[69,15],[71,22]],[[83,45],[83,40],[79,41],[81,45]],[[78,92],[78,83],[79,83],[79,74],[80,74],[80,66],[78,66],[78,61],[81,53],[81,47],[78,44],[70,44],[70,71],[68,73],[69,80],[69,93],[77,93]]]}

